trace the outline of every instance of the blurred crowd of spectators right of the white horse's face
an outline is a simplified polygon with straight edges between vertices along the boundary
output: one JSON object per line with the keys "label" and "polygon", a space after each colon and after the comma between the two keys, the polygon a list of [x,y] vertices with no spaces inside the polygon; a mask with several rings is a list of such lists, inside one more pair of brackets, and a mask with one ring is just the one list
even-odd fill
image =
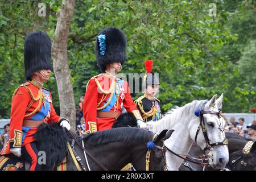
{"label": "blurred crowd of spectators right of the white horse's face", "polygon": [[224,131],[230,132],[230,133],[236,133],[238,135],[241,135],[242,137],[246,138],[247,140],[253,140],[256,139],[256,120],[251,121],[249,125],[245,125],[245,119],[239,118],[238,122],[234,117],[231,117],[228,121],[228,119],[225,118],[225,129]]}

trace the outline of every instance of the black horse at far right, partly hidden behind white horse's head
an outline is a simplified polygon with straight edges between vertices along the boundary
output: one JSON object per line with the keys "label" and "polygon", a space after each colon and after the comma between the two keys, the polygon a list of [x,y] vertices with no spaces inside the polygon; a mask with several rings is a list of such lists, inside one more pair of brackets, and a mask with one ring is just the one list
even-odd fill
{"label": "black horse at far right, partly hidden behind white horse's head", "polygon": [[[240,135],[233,133],[226,133],[226,138],[228,138],[228,149],[229,149],[229,163],[226,165],[226,168],[231,169],[232,171],[241,171],[241,170],[256,170],[256,150],[255,150],[255,142],[250,149],[249,154],[243,154],[243,148],[245,147],[248,140],[241,137]],[[191,156],[201,156],[203,153],[201,152],[199,146],[193,144],[191,150],[189,151],[189,155]],[[199,160],[194,158],[188,158],[193,162],[199,162]],[[180,166],[180,171],[201,171],[203,170],[203,166],[197,163],[189,162],[188,160],[184,160],[183,164]],[[208,171],[216,171],[211,167],[205,167],[205,170]]]}

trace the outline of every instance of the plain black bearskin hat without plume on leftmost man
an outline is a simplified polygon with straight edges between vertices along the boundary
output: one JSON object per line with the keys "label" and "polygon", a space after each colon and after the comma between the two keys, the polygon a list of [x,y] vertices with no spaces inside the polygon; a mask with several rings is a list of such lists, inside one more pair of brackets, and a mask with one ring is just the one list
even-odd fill
{"label": "plain black bearskin hat without plume on leftmost man", "polygon": [[45,32],[31,32],[24,43],[24,66],[27,80],[40,69],[51,69],[51,38]]}

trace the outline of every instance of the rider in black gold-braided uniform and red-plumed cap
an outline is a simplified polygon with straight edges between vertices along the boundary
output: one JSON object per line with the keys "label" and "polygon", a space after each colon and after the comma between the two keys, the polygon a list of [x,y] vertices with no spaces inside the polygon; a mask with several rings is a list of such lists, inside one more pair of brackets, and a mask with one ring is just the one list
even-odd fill
{"label": "rider in black gold-braided uniform and red-plumed cap", "polygon": [[158,75],[151,73],[152,71],[152,60],[145,61],[146,74],[143,78],[143,85],[145,93],[134,101],[137,104],[137,108],[141,112],[144,122],[158,121],[162,118],[159,100],[155,98],[159,88]]}

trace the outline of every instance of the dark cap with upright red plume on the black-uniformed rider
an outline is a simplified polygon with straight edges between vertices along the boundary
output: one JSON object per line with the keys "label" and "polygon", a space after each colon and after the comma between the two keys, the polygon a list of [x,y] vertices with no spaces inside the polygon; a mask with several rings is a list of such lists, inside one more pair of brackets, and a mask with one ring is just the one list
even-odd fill
{"label": "dark cap with upright red plume on the black-uniformed rider", "polygon": [[147,85],[159,85],[159,77],[158,74],[151,73],[152,67],[153,67],[153,61],[152,60],[146,60],[144,62],[146,73],[144,76],[144,85],[147,88]]}

